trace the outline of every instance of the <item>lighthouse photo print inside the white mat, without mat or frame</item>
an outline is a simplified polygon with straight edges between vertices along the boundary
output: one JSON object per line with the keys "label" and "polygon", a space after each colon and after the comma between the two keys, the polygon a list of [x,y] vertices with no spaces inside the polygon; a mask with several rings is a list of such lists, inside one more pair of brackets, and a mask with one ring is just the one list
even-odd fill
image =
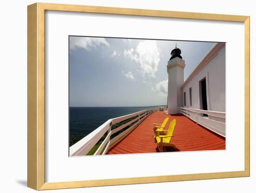
{"label": "lighthouse photo print inside the white mat, without mat or frame", "polygon": [[223,42],[69,36],[69,156],[225,150],[225,61]]}

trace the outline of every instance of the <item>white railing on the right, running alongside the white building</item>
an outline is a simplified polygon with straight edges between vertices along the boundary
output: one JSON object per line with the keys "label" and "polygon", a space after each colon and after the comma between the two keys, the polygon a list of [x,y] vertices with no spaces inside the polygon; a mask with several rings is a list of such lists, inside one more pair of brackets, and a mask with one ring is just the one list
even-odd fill
{"label": "white railing on the right, running alongside the white building", "polygon": [[226,113],[179,107],[179,112],[209,130],[226,137]]}

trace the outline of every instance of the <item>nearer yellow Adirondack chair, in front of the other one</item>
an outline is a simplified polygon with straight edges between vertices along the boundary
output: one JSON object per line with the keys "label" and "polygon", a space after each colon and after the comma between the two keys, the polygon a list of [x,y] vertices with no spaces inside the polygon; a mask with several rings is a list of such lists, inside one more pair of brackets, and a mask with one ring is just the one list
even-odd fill
{"label": "nearer yellow Adirondack chair, in front of the other one", "polygon": [[[163,147],[164,146],[170,146],[173,147],[174,149],[176,148],[174,144],[171,144],[171,138],[174,136],[173,132],[175,129],[175,125],[176,125],[176,120],[172,120],[168,130],[155,130],[159,132],[159,135],[155,136],[155,140],[157,141],[157,146],[159,148],[160,152],[163,152]],[[167,131],[167,134],[164,134],[163,132]]]}

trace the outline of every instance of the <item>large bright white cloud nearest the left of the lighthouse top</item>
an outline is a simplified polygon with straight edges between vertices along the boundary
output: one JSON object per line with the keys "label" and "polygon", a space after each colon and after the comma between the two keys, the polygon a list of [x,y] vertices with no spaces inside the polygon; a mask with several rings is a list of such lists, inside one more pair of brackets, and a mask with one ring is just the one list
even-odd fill
{"label": "large bright white cloud nearest the left of the lighthouse top", "polygon": [[124,50],[124,57],[135,60],[140,65],[143,76],[155,78],[160,61],[160,49],[154,40],[142,40],[136,47],[136,50]]}

